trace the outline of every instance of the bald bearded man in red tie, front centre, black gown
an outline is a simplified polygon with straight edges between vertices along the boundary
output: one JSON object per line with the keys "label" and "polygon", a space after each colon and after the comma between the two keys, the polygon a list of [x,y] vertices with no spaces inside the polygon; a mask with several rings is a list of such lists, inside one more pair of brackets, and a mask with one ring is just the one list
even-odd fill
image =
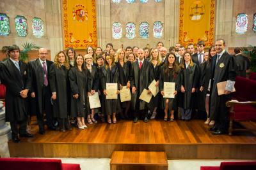
{"label": "bald bearded man in red tie, front centre, black gown", "polygon": [[[133,122],[138,122],[138,118],[142,116],[144,122],[148,122],[147,109],[148,104],[139,99],[144,89],[148,89],[150,83],[154,80],[153,67],[148,60],[144,59],[143,49],[138,50],[138,60],[132,63],[132,109],[134,110]],[[150,93],[150,91],[148,92]]]}

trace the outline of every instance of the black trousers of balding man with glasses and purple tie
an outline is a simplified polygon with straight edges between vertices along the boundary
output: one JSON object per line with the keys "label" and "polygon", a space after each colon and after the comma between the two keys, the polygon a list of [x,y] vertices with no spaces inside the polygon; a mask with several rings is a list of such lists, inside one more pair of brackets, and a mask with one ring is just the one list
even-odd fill
{"label": "black trousers of balding man with glasses and purple tie", "polygon": [[51,104],[51,90],[49,85],[44,87],[42,90],[42,113],[36,112],[36,118],[38,121],[39,129],[44,129],[44,111],[46,115],[46,124],[48,127],[54,125],[53,114],[52,114],[52,104]]}

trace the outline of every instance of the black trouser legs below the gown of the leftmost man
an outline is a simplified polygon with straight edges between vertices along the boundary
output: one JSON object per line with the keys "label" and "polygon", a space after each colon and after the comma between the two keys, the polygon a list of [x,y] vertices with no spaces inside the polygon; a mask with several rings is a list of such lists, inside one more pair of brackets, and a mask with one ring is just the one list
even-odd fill
{"label": "black trouser legs below the gown of the leftmost man", "polygon": [[[13,121],[13,122],[10,122],[10,125],[12,130],[12,138],[17,138],[18,134],[26,134],[27,120],[22,120],[20,122]],[[19,129],[18,129],[18,125],[20,125]]]}

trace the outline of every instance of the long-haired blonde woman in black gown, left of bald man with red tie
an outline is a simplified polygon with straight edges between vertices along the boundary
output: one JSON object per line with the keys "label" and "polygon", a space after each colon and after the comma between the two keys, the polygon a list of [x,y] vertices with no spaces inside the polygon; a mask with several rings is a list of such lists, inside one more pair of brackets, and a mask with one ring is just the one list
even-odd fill
{"label": "long-haired blonde woman in black gown, left of bald man with red tie", "polygon": [[[122,48],[118,49],[116,52],[116,67],[119,72],[119,80],[120,80],[120,89],[126,88],[130,90],[131,87],[131,62],[127,61],[125,57],[125,52]],[[131,92],[130,92],[131,94]],[[121,94],[120,94],[121,95]],[[130,95],[131,96],[131,95]],[[129,118],[128,111],[131,106],[130,101],[121,101],[122,110],[125,110],[124,113],[121,111],[122,118]]]}

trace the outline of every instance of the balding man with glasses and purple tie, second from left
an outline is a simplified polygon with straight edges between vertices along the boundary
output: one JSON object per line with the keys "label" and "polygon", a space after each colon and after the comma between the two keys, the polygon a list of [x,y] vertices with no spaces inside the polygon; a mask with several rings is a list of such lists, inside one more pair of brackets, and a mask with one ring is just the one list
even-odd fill
{"label": "balding man with glasses and purple tie, second from left", "polygon": [[31,94],[36,99],[36,118],[39,125],[39,133],[44,134],[44,111],[46,113],[48,129],[55,130],[52,118],[51,90],[49,87],[49,68],[52,61],[47,60],[47,49],[38,50],[38,59],[29,62],[31,70]]}

